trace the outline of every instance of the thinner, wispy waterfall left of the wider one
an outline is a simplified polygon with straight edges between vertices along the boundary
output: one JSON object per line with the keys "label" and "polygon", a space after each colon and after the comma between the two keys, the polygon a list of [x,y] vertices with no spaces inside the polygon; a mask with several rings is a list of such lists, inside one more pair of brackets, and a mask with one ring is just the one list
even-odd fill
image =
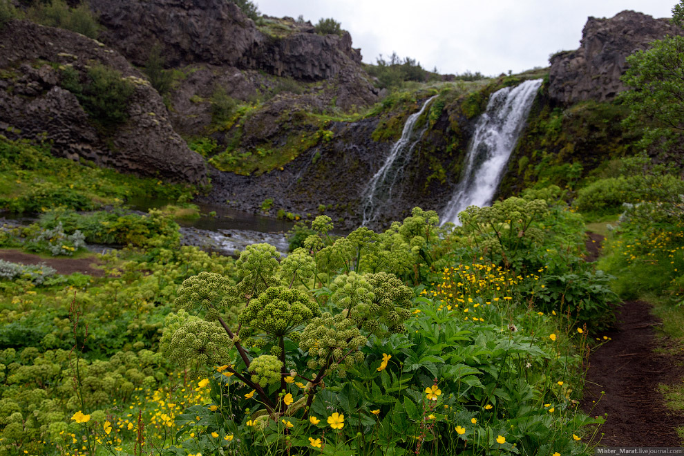
{"label": "thinner, wispy waterfall left of the wider one", "polygon": [[362,226],[367,226],[369,222],[377,220],[380,215],[379,209],[386,207],[387,203],[390,202],[392,198],[392,187],[394,187],[397,182],[403,168],[408,164],[416,144],[418,144],[421,137],[428,129],[428,124],[426,122],[425,128],[419,131],[418,134],[415,134],[415,124],[418,117],[421,116],[428,104],[430,104],[435,97],[437,97],[437,95],[428,98],[423,106],[421,106],[420,111],[408,116],[406,124],[403,126],[403,131],[401,131],[401,137],[392,145],[390,155],[388,155],[385,163],[377,173],[373,175],[370,182],[368,182],[368,185],[363,190],[363,193],[361,194],[361,207],[363,207]]}

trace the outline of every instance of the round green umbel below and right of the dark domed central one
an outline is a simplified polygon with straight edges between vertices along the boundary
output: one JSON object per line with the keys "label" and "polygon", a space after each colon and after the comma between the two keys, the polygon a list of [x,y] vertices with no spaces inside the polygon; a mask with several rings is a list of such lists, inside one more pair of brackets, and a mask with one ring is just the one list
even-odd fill
{"label": "round green umbel below and right of the dark domed central one", "polygon": [[332,363],[325,370],[325,374],[337,372],[340,377],[345,377],[348,368],[363,361],[361,347],[367,339],[345,313],[332,315],[325,312],[305,327],[299,348],[309,353],[308,368],[321,369],[329,364],[328,361],[332,357]]}

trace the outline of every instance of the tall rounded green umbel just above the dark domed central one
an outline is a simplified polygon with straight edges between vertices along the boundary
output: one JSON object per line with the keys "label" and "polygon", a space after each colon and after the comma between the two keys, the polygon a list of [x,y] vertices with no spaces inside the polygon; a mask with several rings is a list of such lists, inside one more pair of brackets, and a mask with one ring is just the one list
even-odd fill
{"label": "tall rounded green umbel just above the dark domed central one", "polygon": [[280,285],[275,278],[280,256],[276,247],[269,244],[245,247],[235,262],[240,293],[254,297],[268,287]]}

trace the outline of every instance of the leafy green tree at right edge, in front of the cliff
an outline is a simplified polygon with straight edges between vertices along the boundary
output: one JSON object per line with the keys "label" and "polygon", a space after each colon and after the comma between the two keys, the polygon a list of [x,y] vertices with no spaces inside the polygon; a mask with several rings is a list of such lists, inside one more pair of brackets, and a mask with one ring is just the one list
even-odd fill
{"label": "leafy green tree at right edge, in front of the cliff", "polygon": [[[684,23],[684,0],[672,9],[672,22]],[[643,128],[644,148],[681,150],[684,137],[684,37],[652,41],[651,48],[627,57],[622,77],[633,89],[620,94],[630,108],[625,124]]]}

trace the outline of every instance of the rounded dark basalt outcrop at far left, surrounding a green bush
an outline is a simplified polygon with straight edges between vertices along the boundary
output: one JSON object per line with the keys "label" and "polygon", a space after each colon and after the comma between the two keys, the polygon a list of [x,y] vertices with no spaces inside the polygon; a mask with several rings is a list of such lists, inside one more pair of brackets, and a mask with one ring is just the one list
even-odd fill
{"label": "rounded dark basalt outcrop at far left, surrounding a green bush", "polygon": [[[0,133],[53,143],[53,154],[178,182],[206,180],[204,160],[173,131],[158,93],[127,61],[93,39],[12,21],[0,31]],[[129,120],[103,133],[77,97],[60,86],[64,69],[82,77],[102,64],[135,87]]]}

